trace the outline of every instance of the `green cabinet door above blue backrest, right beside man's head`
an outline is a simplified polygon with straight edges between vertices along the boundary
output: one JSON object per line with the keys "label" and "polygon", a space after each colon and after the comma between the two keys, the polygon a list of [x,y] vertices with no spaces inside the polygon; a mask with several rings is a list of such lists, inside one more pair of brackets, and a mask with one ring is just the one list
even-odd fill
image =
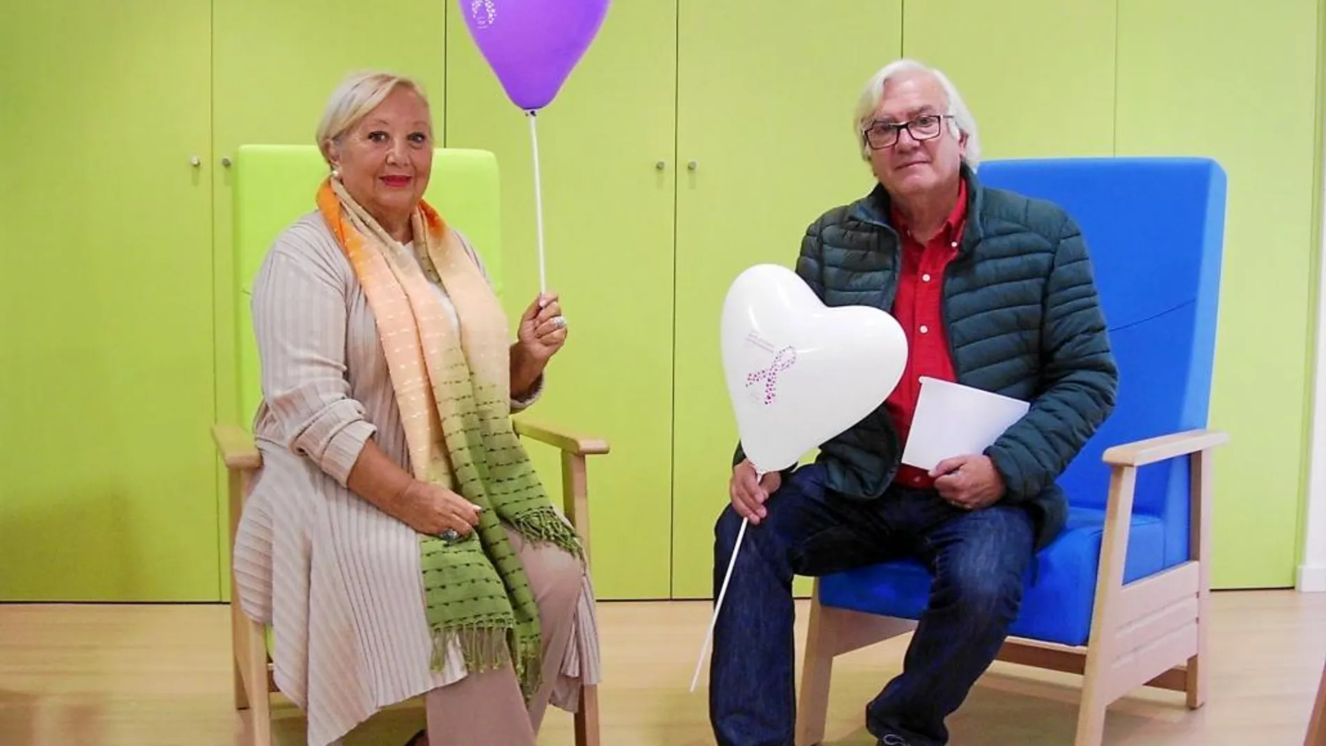
{"label": "green cabinet door above blue backrest, right beside man's head", "polygon": [[983,158],[1110,155],[1115,0],[907,3],[903,53],[944,70]]}

